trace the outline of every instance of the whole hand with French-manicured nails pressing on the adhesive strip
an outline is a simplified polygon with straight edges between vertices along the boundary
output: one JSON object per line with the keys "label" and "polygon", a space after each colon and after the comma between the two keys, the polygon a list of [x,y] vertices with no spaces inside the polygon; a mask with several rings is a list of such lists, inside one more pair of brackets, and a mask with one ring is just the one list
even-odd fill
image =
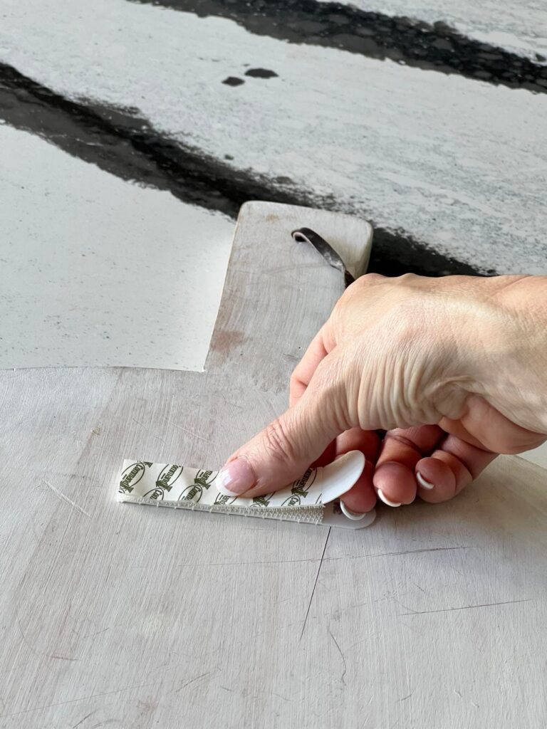
{"label": "whole hand with French-manicured nails pressing on the adhesive strip", "polygon": [[349,515],[376,495],[451,499],[497,453],[546,440],[546,294],[539,276],[358,279],[292,374],[290,408],[233,453],[221,490],[267,494],[357,449]]}

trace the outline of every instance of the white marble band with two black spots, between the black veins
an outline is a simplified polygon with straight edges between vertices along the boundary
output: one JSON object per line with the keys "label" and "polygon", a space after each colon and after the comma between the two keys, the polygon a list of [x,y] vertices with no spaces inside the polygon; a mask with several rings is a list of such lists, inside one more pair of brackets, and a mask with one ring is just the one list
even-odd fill
{"label": "white marble band with two black spots, between the black veins", "polygon": [[[479,269],[547,272],[547,94],[126,0],[1,5],[0,58],[70,98],[133,106],[171,139]],[[279,75],[222,84],[249,66]]]}

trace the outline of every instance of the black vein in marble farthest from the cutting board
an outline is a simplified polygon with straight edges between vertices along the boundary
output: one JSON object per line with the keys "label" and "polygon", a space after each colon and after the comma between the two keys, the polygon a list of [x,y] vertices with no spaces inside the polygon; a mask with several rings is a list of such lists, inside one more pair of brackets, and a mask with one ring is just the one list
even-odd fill
{"label": "black vein in marble farthest from the cutting board", "polygon": [[[234,20],[247,31],[290,43],[338,48],[419,69],[547,92],[547,66],[459,34],[446,23],[390,17],[317,0],[131,0],[200,17]],[[538,57],[538,61],[545,61]]]}

